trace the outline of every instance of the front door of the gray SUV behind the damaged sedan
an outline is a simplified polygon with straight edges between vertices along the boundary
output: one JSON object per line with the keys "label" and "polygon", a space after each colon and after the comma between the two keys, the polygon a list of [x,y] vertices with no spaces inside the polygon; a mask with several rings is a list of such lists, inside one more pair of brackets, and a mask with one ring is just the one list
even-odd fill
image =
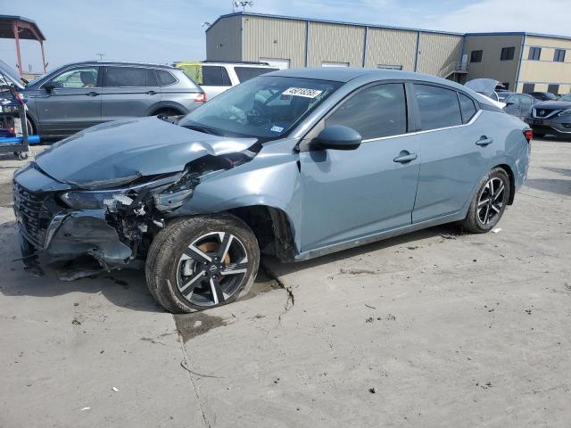
{"label": "front door of the gray SUV behind the damaged sedan", "polygon": [[42,134],[70,135],[101,122],[99,70],[96,66],[65,70],[40,87],[35,101]]}

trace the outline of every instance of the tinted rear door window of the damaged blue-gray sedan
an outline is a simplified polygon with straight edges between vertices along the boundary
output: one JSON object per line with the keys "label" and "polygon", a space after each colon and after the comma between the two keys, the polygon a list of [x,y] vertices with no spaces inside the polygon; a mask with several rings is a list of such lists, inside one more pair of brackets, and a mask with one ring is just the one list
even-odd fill
{"label": "tinted rear door window of the damaged blue-gray sedan", "polygon": [[[456,91],[438,86],[415,85],[415,92],[422,130],[453,127],[462,123]],[[476,107],[472,108],[473,116]],[[469,109],[466,114],[467,118],[471,118]]]}

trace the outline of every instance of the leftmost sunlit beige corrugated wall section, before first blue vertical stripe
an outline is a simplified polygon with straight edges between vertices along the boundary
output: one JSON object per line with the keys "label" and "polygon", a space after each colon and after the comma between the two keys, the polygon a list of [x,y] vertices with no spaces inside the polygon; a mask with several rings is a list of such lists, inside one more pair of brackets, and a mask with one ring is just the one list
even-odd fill
{"label": "leftmost sunlit beige corrugated wall section, before first blue vertical stripe", "polygon": [[276,58],[290,60],[291,67],[303,67],[305,29],[305,21],[244,16],[243,61]]}

